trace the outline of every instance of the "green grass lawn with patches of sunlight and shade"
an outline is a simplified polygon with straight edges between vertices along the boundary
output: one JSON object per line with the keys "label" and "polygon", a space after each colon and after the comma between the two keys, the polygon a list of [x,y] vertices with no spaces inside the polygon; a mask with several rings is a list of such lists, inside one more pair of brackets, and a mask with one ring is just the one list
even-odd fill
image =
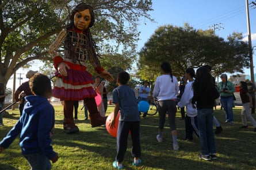
{"label": "green grass lawn with patches of sunlight and shade", "polygon": [[[116,156],[116,138],[106,132],[105,126],[91,128],[89,120],[83,120],[84,114],[78,108],[79,133],[67,135],[63,132],[62,106],[55,106],[56,125],[52,145],[59,153],[59,160],[52,164],[52,169],[108,169]],[[12,128],[18,120],[18,110],[9,110],[9,115],[3,118],[5,126],[0,127],[0,139]],[[113,105],[108,107],[107,115],[113,112]],[[204,161],[197,158],[200,153],[200,143],[194,135],[194,141],[184,141],[185,125],[177,112],[178,142],[180,150],[173,151],[170,129],[166,121],[163,133],[163,143],[156,141],[158,132],[158,114],[147,116],[141,121],[140,143],[142,161],[140,167],[133,167],[131,156],[131,138],[128,139],[128,149],[125,154],[125,169],[256,169],[256,133],[249,122],[249,129],[240,130],[240,108],[234,108],[235,125],[224,123],[223,110],[215,110],[215,116],[223,126],[224,131],[215,136],[217,160]],[[255,115],[253,115],[255,118]],[[18,145],[18,137],[10,148],[0,154],[0,169],[29,169],[28,163],[22,157]]]}

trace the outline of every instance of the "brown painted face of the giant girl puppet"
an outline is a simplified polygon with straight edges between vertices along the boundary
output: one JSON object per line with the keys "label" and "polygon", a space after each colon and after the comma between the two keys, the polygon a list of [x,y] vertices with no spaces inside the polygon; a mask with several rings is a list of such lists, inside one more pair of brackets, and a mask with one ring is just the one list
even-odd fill
{"label": "brown painted face of the giant girl puppet", "polygon": [[89,9],[79,11],[74,15],[74,25],[79,30],[85,30],[90,25],[91,15]]}

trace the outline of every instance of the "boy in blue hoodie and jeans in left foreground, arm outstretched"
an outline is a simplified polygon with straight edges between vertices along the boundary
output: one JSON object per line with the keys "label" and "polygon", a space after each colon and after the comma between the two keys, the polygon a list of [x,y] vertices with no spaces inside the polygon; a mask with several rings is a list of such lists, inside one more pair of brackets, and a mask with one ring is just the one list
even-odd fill
{"label": "boy in blue hoodie and jeans in left foreground, arm outstretched", "polygon": [[29,87],[35,96],[26,96],[22,116],[0,142],[0,153],[13,143],[20,134],[22,155],[32,170],[51,169],[51,162],[58,160],[58,154],[51,146],[54,129],[54,107],[47,98],[52,96],[51,81],[44,74],[36,73],[29,80]]}

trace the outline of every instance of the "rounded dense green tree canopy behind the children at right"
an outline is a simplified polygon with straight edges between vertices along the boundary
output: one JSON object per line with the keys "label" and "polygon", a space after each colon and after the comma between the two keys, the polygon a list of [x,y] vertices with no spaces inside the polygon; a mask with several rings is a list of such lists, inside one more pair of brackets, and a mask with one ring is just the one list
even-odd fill
{"label": "rounded dense green tree canopy behind the children at right", "polygon": [[187,68],[212,66],[215,76],[223,73],[243,73],[249,67],[249,45],[242,41],[242,33],[229,35],[227,41],[213,35],[212,30],[196,30],[165,25],[155,30],[139,52],[139,74],[154,81],[162,62],[170,62],[175,76],[184,76]]}

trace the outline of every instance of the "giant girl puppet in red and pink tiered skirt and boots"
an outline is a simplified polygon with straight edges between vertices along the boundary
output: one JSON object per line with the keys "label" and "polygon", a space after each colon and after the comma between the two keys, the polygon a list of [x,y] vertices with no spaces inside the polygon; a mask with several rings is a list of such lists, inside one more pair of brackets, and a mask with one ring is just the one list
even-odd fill
{"label": "giant girl puppet in red and pink tiered skirt and boots", "polygon": [[[64,101],[63,128],[66,133],[78,132],[73,118],[75,100],[84,100],[89,110],[91,126],[105,124],[106,117],[98,112],[94,97],[93,79],[86,70],[90,62],[95,71],[108,81],[113,81],[112,75],[101,67],[96,45],[91,37],[90,27],[94,24],[93,7],[80,3],[71,12],[70,23],[60,31],[54,43],[49,46],[49,53],[54,57],[54,67],[58,70],[53,96]],[[56,52],[64,44],[64,55]]]}

